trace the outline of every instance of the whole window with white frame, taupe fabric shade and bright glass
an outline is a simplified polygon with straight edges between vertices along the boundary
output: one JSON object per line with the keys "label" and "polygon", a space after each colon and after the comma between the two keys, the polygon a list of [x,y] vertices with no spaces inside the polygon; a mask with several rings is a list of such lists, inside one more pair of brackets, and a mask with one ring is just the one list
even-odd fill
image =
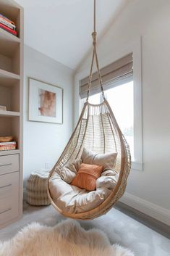
{"label": "whole window with white frame, taupe fabric shade and bright glass", "polygon": [[[131,51],[131,54],[101,68],[101,76],[106,99],[130,146],[132,169],[143,170],[141,41],[137,40],[130,45],[128,51]],[[88,70],[86,71],[88,73]],[[84,71],[76,75],[80,107],[88,92],[88,76],[83,75]],[[92,76],[90,95],[91,103],[101,102],[97,73]]]}

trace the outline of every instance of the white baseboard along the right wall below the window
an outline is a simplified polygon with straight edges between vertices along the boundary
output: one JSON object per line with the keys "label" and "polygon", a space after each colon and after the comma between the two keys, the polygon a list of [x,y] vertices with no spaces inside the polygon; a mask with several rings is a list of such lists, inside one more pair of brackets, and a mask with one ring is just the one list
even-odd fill
{"label": "white baseboard along the right wall below the window", "polygon": [[146,215],[165,223],[166,225],[170,225],[170,210],[127,192],[120,199],[120,202],[123,202],[125,205],[129,205],[130,207],[139,210],[140,212],[143,212]]}

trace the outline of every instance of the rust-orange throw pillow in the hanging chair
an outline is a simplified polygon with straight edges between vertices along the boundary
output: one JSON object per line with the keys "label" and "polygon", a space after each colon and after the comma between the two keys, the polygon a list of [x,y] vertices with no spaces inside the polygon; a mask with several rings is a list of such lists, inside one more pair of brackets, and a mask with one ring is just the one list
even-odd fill
{"label": "rust-orange throw pillow in the hanging chair", "polygon": [[96,189],[96,180],[101,176],[102,171],[103,166],[82,163],[71,185],[78,186],[80,189],[93,191]]}

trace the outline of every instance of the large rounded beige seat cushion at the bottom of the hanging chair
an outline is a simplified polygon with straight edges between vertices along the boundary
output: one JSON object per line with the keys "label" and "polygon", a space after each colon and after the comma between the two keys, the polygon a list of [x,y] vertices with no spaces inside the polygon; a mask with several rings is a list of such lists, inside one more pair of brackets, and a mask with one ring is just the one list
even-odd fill
{"label": "large rounded beige seat cushion at the bottom of the hanging chair", "polygon": [[106,188],[98,188],[95,191],[86,191],[77,186],[71,186],[63,181],[59,173],[51,177],[50,182],[51,196],[61,210],[67,209],[69,213],[78,213],[91,210],[109,196],[111,191]]}

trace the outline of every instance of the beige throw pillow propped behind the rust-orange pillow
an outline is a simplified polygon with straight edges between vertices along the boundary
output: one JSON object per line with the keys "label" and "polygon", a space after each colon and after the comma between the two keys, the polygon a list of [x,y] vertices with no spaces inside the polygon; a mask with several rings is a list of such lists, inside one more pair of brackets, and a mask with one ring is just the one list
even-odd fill
{"label": "beige throw pillow propped behind the rust-orange pillow", "polygon": [[114,169],[117,153],[95,154],[94,152],[83,149],[82,162],[90,165],[102,165],[104,170]]}

